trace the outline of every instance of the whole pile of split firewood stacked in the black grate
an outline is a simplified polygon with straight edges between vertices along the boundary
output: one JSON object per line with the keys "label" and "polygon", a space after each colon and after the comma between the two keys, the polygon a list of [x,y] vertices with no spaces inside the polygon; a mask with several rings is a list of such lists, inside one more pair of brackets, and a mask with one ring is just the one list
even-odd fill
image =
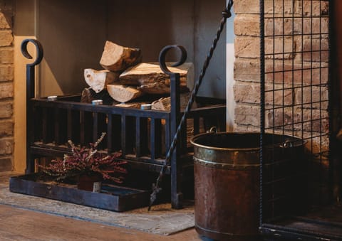
{"label": "whole pile of split firewood stacked in the black grate", "polygon": [[[123,47],[106,41],[100,65],[104,70],[84,70],[89,87],[83,90],[82,102],[94,99],[110,102],[111,98],[113,105],[140,107],[140,104],[145,103],[141,101],[144,100],[143,96],[148,95],[152,109],[170,110],[170,76],[162,72],[159,63],[142,63],[139,48]],[[194,79],[193,64],[184,63],[169,69],[180,73],[181,103],[185,106]]]}

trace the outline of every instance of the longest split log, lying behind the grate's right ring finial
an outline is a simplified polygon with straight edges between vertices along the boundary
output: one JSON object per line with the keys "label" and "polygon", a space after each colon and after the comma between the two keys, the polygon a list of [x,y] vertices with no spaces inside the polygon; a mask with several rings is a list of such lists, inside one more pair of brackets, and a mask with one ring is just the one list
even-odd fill
{"label": "longest split log, lying behind the grate's right ring finial", "polygon": [[[169,67],[169,70],[173,73],[180,73],[180,90],[182,92],[192,90],[194,81],[194,65],[192,63]],[[170,76],[162,72],[158,63],[140,63],[128,68],[120,75],[119,81],[121,85],[138,85],[140,90],[150,94],[170,93]]]}

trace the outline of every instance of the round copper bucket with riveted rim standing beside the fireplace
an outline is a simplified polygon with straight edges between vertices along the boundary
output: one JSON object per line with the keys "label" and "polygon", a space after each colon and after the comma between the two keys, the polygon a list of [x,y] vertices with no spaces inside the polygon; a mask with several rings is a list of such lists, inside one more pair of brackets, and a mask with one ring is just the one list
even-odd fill
{"label": "round copper bucket with riveted rim standing beside the fireplace", "polygon": [[[207,133],[195,136],[195,228],[200,235],[214,240],[259,239],[259,139],[258,133]],[[276,143],[266,149],[264,156],[279,156],[281,165],[270,165],[266,172],[281,176],[295,160],[294,151],[303,151],[303,141],[294,136],[265,134],[265,142]],[[291,146],[291,149],[287,147]],[[289,150],[289,151],[288,151]],[[303,157],[303,156],[301,156]],[[284,158],[291,163],[284,161]],[[276,170],[280,170],[279,174]],[[265,174],[267,178],[267,174]],[[280,192],[289,192],[295,180],[281,184]],[[293,186],[292,186],[293,187]],[[267,187],[264,187],[267,189]],[[274,188],[274,186],[272,186]],[[269,188],[269,190],[272,190]],[[267,190],[267,196],[275,193]],[[284,196],[284,193],[277,193]],[[272,203],[274,208],[274,203]],[[286,212],[291,200],[278,203],[279,210]],[[274,209],[265,213],[274,215]]]}

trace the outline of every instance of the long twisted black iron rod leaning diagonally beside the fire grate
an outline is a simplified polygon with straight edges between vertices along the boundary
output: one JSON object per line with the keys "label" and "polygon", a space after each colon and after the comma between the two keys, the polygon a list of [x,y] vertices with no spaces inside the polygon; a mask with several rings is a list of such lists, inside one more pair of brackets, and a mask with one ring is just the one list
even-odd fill
{"label": "long twisted black iron rod leaning diagonally beside the fire grate", "polygon": [[234,4],[234,1],[229,0],[229,3],[227,4],[227,8],[224,9],[224,11],[222,11],[222,19],[221,19],[221,22],[219,23],[219,28],[217,29],[216,36],[214,38],[214,41],[212,42],[212,46],[210,47],[207,58],[204,61],[202,71],[198,77],[198,80],[195,82],[195,87],[192,90],[190,100],[187,103],[187,107],[185,108],[185,112],[182,116],[182,119],[180,120],[180,124],[177,127],[177,132],[172,139],[170,149],[169,149],[169,151],[167,151],[167,155],[165,157],[165,162],[164,162],[162,168],[160,169],[160,173],[159,173],[159,176],[157,177],[156,182],[152,183],[152,193],[150,196],[150,205],[148,206],[148,210],[151,209],[152,204],[157,199],[157,193],[159,193],[162,190],[162,188],[160,188],[159,186],[160,186],[160,183],[162,181],[162,177],[165,175],[165,169],[170,164],[170,159],[171,159],[173,151],[175,151],[175,147],[177,145],[177,140],[180,136],[180,132],[182,131],[182,127],[185,123],[185,120],[187,119],[187,116],[188,116],[190,110],[191,110],[192,104],[195,102],[195,97],[196,97],[197,92],[199,90],[199,86],[201,85],[202,79],[203,79],[205,73],[207,72],[207,68],[209,66],[210,60],[211,60],[212,55],[214,53],[214,50],[216,48],[217,42],[219,41],[219,37],[221,36],[221,33],[224,29],[224,25],[227,21],[227,18],[230,18],[232,16],[231,9],[232,9],[233,4]]}

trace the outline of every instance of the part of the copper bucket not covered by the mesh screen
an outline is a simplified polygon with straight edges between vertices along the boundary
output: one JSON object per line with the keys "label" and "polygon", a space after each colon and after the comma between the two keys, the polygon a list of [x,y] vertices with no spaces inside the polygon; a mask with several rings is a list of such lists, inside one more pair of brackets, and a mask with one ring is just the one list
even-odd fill
{"label": "part of the copper bucket not covered by the mesh screen", "polygon": [[227,150],[224,136],[202,134],[192,140],[195,227],[199,234],[214,240],[255,240],[259,227],[259,149]]}

